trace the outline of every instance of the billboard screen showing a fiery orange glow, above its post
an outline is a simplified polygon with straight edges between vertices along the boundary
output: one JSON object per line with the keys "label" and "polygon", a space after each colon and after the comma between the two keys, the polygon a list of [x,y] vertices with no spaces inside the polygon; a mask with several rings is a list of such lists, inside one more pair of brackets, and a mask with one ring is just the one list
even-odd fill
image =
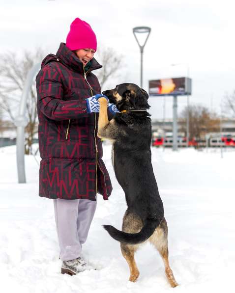
{"label": "billboard screen showing a fiery orange glow, above its post", "polygon": [[191,95],[192,80],[189,78],[170,78],[149,80],[149,96]]}

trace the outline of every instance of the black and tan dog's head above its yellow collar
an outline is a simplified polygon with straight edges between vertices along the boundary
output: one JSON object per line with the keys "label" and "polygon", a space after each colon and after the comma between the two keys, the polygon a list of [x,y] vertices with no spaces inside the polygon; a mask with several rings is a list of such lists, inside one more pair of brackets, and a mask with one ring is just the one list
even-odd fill
{"label": "black and tan dog's head above its yellow collar", "polygon": [[103,94],[110,103],[116,104],[119,111],[146,110],[150,107],[147,92],[134,83],[118,84],[114,89],[103,91]]}

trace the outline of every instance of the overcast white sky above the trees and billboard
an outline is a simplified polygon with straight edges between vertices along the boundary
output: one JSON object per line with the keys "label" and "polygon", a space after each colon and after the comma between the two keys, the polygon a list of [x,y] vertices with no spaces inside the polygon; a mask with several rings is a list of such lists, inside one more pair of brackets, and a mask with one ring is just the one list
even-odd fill
{"label": "overcast white sky above the trees and billboard", "polygon": [[[218,114],[222,108],[226,114],[221,107],[225,93],[235,90],[234,9],[230,0],[0,0],[0,53],[20,55],[38,47],[56,53],[79,17],[93,28],[98,47],[123,56],[119,77],[104,90],[122,82],[140,85],[140,49],[132,29],[147,26],[151,33],[144,49],[143,88],[148,91],[148,80],[189,73],[189,104]],[[152,118],[163,118],[163,101],[149,98]],[[173,98],[165,101],[165,118],[172,118]],[[178,115],[186,105],[187,97],[178,97]]]}

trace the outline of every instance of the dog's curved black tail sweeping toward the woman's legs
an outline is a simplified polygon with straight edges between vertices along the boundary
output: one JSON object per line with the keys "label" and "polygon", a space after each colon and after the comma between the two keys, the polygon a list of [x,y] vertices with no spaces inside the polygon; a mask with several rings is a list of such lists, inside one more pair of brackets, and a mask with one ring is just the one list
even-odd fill
{"label": "dog's curved black tail sweeping toward the woman's legs", "polygon": [[119,231],[110,225],[103,225],[104,229],[108,231],[109,235],[115,240],[125,244],[138,244],[147,240],[159,225],[158,220],[147,219],[145,225],[139,233],[126,233]]}

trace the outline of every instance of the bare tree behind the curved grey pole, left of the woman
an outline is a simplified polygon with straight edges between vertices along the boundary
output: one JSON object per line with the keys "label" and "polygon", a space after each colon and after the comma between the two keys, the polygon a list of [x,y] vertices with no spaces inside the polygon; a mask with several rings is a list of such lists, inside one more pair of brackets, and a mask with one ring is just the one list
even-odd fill
{"label": "bare tree behind the curved grey pole, left of the woman", "polygon": [[[6,117],[14,122],[18,114],[20,98],[31,67],[40,62],[44,54],[41,49],[35,53],[24,52],[19,58],[16,53],[10,52],[0,55],[0,108]],[[32,153],[32,140],[37,132],[36,91],[35,84],[30,90],[30,99],[27,101],[28,125],[25,128],[25,154]]]}

